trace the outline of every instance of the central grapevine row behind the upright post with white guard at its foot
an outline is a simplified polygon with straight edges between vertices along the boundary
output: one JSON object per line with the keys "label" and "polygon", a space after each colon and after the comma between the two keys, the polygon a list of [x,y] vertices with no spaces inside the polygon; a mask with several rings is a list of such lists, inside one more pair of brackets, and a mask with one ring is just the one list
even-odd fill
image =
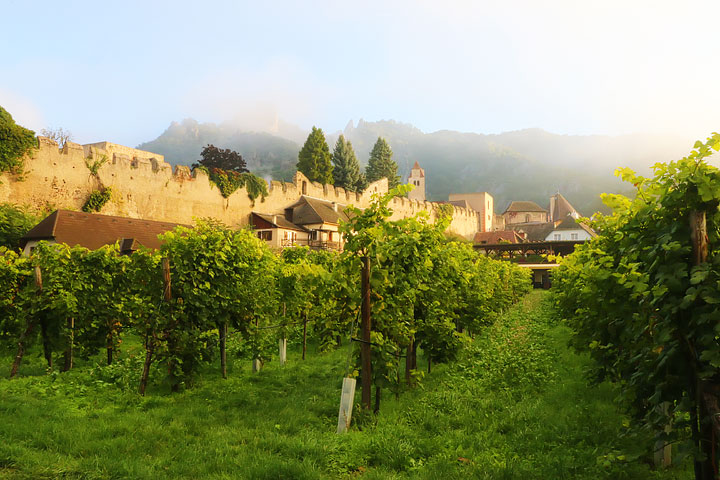
{"label": "central grapevine row behind the upright post with white guard at its foot", "polygon": [[421,212],[388,221],[392,198],[411,188],[398,186],[365,210],[348,210],[350,221],[341,226],[341,268],[350,284],[346,302],[357,311],[360,258],[368,257],[373,383],[394,391],[401,357],[408,358],[408,369],[416,368],[418,348],[433,362],[454,360],[467,341],[462,330],[480,331],[531,288],[529,270],[479,257],[466,243],[447,242],[448,216],[431,223]]}

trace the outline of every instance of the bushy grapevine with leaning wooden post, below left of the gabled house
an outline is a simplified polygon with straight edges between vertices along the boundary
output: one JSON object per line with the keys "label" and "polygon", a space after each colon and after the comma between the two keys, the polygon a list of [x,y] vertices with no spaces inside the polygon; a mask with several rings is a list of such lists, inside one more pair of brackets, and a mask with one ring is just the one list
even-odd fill
{"label": "bushy grapevine with leaning wooden post, below left of the gabled house", "polygon": [[155,336],[167,345],[176,369],[171,374],[187,382],[209,357],[213,344],[207,332],[231,325],[247,337],[253,327],[269,322],[276,311],[276,258],[251,231],[214,223],[178,227],[162,240],[160,255],[170,259],[173,295],[168,323]]}

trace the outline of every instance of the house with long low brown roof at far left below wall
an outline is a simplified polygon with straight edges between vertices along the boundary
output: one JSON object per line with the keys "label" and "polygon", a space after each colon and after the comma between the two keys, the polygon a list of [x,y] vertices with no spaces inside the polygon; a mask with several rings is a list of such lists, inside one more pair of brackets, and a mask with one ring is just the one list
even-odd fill
{"label": "house with long low brown roof at far left below wall", "polygon": [[80,245],[90,250],[119,242],[122,253],[132,253],[140,246],[160,248],[158,235],[173,230],[179,225],[97,213],[55,210],[21,238],[20,247],[25,255],[29,255],[35,245],[43,240],[65,243],[71,247]]}

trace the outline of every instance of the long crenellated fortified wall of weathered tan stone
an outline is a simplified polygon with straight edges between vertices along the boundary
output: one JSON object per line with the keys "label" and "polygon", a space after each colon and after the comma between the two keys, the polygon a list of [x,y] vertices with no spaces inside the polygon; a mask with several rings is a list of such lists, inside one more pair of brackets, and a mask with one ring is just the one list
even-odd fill
{"label": "long crenellated fortified wall of weathered tan stone", "polygon": [[[97,174],[91,166],[103,162]],[[111,200],[100,213],[166,222],[193,223],[211,217],[232,227],[249,222],[250,213],[281,213],[301,195],[365,208],[372,195],[388,191],[387,179],[370,184],[362,194],[332,185],[310,182],[297,172],[294,181],[273,181],[264,201],[248,198],[244,188],[224,198],[202,171],[172,166],[162,155],[122,145],[101,142],[78,145],[68,142],[63,150],[57,143],[39,137],[39,148],[25,160],[20,176],[0,175],[0,202],[27,205],[36,211],[67,208],[80,210],[94,190],[112,189]],[[413,216],[427,210],[435,219],[439,208],[432,202],[395,198],[392,219]],[[449,230],[472,238],[478,229],[478,214],[454,207]]]}

